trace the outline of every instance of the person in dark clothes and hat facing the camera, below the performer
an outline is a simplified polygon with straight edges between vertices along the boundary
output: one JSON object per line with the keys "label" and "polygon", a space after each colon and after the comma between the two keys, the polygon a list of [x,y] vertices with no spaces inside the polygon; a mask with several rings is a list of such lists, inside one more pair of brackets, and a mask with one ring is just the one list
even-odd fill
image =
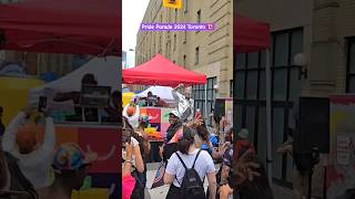
{"label": "person in dark clothes and hat facing the camera, below the performer", "polygon": [[172,140],[174,135],[182,129],[182,123],[181,123],[178,111],[174,109],[169,114],[169,123],[170,123],[170,126],[166,129],[165,140],[160,151],[163,158],[163,161],[165,163],[168,163],[171,155],[178,151],[178,143]]}

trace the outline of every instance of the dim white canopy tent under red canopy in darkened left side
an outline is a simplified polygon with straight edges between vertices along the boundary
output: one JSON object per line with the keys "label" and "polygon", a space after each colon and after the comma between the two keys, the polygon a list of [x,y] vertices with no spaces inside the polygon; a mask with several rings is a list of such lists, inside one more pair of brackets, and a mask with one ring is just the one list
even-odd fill
{"label": "dim white canopy tent under red canopy in darkened left side", "polygon": [[[119,90],[119,72],[120,57],[94,57],[87,64],[68,75],[42,86],[30,90],[28,98],[29,104],[37,104],[39,102],[39,96],[52,97],[57,92],[80,91],[81,78],[88,73],[94,74],[98,85],[111,86],[112,91]],[[49,102],[51,102],[50,98]]]}

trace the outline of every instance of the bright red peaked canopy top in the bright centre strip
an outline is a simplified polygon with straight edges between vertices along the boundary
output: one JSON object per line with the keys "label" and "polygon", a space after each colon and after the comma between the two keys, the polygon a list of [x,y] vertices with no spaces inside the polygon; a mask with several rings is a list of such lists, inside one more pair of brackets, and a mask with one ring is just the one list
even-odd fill
{"label": "bright red peaked canopy top in the bright centre strip", "polygon": [[187,71],[172,63],[164,56],[156,54],[142,65],[122,71],[124,84],[178,86],[204,84],[206,75]]}

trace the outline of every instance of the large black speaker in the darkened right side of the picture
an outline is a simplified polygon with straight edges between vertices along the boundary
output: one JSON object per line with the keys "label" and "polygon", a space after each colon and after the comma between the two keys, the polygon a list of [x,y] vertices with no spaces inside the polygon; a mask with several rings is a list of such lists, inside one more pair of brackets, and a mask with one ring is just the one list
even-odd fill
{"label": "large black speaker in the darkened right side of the picture", "polygon": [[329,98],[300,97],[294,153],[329,153]]}

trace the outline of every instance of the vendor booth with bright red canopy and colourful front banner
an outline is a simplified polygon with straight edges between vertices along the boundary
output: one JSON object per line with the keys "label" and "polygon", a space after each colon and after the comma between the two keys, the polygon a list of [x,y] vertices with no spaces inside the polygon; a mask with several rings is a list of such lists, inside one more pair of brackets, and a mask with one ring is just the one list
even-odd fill
{"label": "vendor booth with bright red canopy and colourful front banner", "polygon": [[[146,98],[148,93],[151,92],[153,98],[158,98],[159,96],[162,101],[166,102],[166,104],[170,104],[170,102],[174,102],[171,94],[172,87],[175,87],[179,84],[205,84],[206,76],[187,71],[172,63],[164,56],[156,54],[152,60],[142,65],[123,70],[122,81],[124,84],[154,85],[135,95],[135,97]],[[140,107],[141,115],[149,116],[150,127],[145,129],[145,133],[149,135],[152,146],[150,161],[160,161],[159,146],[162,145],[165,138],[166,129],[169,127],[169,113],[174,105],[168,105],[165,107],[156,106],[154,103],[154,106],[151,106],[152,104],[149,103],[145,105],[141,104]]]}

